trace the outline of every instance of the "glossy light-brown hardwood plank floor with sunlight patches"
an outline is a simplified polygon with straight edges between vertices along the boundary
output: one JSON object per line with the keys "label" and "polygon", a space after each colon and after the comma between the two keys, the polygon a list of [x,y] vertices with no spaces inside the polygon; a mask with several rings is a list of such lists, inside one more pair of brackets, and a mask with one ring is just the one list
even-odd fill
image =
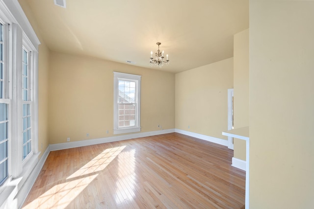
{"label": "glossy light-brown hardwood plank floor with sunlight patches", "polygon": [[178,133],[52,151],[23,209],[240,209],[225,146]]}

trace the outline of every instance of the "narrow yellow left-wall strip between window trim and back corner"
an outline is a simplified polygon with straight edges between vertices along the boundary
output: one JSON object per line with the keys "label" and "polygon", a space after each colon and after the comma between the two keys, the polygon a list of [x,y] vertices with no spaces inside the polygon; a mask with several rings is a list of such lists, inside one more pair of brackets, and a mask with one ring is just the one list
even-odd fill
{"label": "narrow yellow left-wall strip between window trim and back corner", "polygon": [[40,45],[38,48],[38,151],[41,152],[39,158],[43,155],[49,145],[48,138],[48,71],[50,50],[46,46],[37,22],[32,15],[28,4],[24,0],[19,0],[26,17],[34,29]]}

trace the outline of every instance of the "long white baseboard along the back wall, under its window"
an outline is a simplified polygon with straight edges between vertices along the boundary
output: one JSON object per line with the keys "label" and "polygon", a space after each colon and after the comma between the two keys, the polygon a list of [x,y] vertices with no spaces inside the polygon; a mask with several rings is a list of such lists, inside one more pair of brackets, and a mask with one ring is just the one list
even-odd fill
{"label": "long white baseboard along the back wall, under its window", "polygon": [[106,138],[100,138],[100,139],[89,139],[89,140],[82,140],[82,141],[50,144],[50,150],[55,151],[55,150],[69,149],[69,148],[89,146],[89,145],[94,145],[94,144],[102,144],[102,143],[113,142],[113,141],[136,139],[136,138],[149,137],[149,136],[155,136],[155,135],[160,135],[160,134],[169,134],[173,132],[175,132],[175,129],[143,132],[143,133],[137,133],[137,134],[128,134],[128,135],[106,137]]}

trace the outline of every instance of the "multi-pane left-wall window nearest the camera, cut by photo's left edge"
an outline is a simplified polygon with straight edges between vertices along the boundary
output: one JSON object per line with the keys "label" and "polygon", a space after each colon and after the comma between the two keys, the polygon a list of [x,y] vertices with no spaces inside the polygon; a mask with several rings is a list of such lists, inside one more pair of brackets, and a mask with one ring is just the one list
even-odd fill
{"label": "multi-pane left-wall window nearest the camera, cut by photo's left edge", "polygon": [[4,25],[0,23],[0,185],[8,177],[8,99],[5,98]]}

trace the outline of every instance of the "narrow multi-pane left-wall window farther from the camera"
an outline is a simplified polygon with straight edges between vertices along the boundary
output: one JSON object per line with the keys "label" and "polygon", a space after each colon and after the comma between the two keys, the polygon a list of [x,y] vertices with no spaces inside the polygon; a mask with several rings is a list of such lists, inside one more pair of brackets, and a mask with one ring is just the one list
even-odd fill
{"label": "narrow multi-pane left-wall window farther from the camera", "polygon": [[23,48],[23,160],[31,154],[31,103],[28,55],[30,52]]}

